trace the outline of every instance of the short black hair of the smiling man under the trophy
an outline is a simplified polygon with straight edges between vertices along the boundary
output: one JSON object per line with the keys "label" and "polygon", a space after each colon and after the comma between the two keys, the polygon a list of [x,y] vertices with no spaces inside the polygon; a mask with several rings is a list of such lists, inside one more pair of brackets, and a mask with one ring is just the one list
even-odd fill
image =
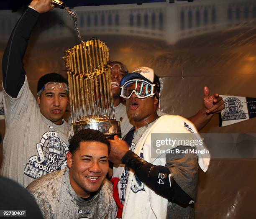
{"label": "short black hair of the smiling man under the trophy", "polygon": [[110,142],[102,132],[94,129],[82,129],[69,139],[69,152],[74,154],[79,148],[80,143],[83,141],[96,141],[108,146],[108,154],[110,153]]}

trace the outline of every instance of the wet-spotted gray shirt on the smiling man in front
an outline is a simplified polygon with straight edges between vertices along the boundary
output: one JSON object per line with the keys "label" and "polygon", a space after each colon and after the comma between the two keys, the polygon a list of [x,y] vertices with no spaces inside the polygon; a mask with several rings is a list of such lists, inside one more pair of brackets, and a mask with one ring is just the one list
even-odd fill
{"label": "wet-spotted gray shirt on the smiling man in front", "polygon": [[33,181],[27,187],[45,219],[115,218],[117,206],[113,184],[105,180],[100,191],[89,201],[80,198],[69,182],[69,169],[56,171]]}

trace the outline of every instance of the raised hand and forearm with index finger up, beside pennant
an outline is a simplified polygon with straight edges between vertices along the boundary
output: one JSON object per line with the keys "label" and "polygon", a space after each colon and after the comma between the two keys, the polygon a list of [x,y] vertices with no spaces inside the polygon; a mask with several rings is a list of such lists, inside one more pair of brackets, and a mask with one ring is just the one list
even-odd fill
{"label": "raised hand and forearm with index finger up, beside pennant", "polygon": [[212,116],[224,109],[224,101],[219,94],[209,95],[208,87],[204,87],[204,107],[196,115],[189,117],[188,120],[193,122],[197,130],[201,130],[211,120]]}

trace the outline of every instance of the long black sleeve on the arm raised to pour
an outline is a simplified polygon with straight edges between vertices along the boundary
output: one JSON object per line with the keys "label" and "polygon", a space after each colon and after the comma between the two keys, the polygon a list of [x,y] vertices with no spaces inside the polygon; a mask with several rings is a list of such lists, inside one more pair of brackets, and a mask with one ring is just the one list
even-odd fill
{"label": "long black sleeve on the arm raised to pour", "polygon": [[5,92],[14,98],[18,96],[24,84],[26,71],[23,57],[39,15],[40,13],[32,8],[25,11],[15,25],[3,54],[3,87]]}

